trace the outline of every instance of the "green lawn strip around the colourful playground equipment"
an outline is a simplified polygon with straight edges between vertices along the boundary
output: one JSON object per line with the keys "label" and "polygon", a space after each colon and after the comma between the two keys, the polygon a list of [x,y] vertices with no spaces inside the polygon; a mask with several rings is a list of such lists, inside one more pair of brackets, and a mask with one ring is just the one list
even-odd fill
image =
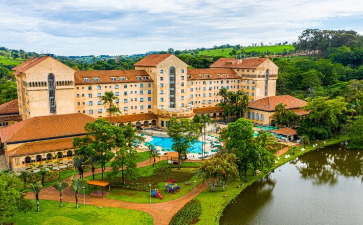
{"label": "green lawn strip around the colourful playground equipment", "polygon": [[[186,185],[185,182],[177,183],[180,189],[175,191],[174,194],[165,192],[165,182],[159,182],[157,184],[157,188],[159,192],[164,197],[164,200],[160,198],[151,197],[151,203],[160,203],[164,201],[174,200],[176,198],[182,197],[183,195],[187,194],[189,191],[194,189],[194,181],[196,181],[196,185],[202,182],[202,179],[198,179],[198,175],[195,174],[188,180],[191,184]],[[116,199],[116,200],[123,200],[123,201],[131,201],[131,202],[138,202],[138,203],[148,203],[150,202],[149,192],[148,191],[135,191],[135,190],[128,190],[128,189],[121,189],[121,188],[111,188],[111,193],[106,196],[106,198]]]}

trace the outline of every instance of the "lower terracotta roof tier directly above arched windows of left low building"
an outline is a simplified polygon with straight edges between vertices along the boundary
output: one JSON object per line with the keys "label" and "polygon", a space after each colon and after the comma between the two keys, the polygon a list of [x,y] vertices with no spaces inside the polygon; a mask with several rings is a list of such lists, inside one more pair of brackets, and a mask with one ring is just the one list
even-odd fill
{"label": "lower terracotta roof tier directly above arched windows of left low building", "polygon": [[73,139],[74,137],[28,142],[9,151],[8,156],[19,156],[50,151],[60,151],[64,149],[73,149]]}

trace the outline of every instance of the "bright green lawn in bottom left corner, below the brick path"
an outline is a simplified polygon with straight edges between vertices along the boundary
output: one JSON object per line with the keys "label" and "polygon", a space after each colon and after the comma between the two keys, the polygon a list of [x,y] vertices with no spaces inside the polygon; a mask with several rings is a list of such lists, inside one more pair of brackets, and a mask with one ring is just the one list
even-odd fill
{"label": "bright green lawn in bottom left corner, below the brick path", "polygon": [[40,212],[36,212],[35,200],[33,208],[24,214],[17,212],[6,222],[14,221],[15,224],[153,224],[151,216],[145,212],[119,208],[97,208],[97,206],[79,205],[64,202],[59,207],[58,201],[41,200]]}

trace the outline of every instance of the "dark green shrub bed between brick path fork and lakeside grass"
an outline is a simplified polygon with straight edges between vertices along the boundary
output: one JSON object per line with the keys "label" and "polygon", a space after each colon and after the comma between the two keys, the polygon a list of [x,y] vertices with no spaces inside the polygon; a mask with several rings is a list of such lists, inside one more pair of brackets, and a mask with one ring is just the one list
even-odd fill
{"label": "dark green shrub bed between brick path fork and lakeside grass", "polygon": [[198,219],[200,212],[200,201],[192,199],[173,216],[169,225],[192,224]]}

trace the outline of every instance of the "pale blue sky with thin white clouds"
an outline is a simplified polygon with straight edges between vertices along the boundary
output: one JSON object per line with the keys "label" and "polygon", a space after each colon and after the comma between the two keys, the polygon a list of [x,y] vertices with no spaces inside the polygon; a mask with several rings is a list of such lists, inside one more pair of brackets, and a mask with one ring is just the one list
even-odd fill
{"label": "pale blue sky with thin white clouds", "polygon": [[363,34],[361,0],[0,0],[0,46],[65,56],[290,43],[315,28]]}

